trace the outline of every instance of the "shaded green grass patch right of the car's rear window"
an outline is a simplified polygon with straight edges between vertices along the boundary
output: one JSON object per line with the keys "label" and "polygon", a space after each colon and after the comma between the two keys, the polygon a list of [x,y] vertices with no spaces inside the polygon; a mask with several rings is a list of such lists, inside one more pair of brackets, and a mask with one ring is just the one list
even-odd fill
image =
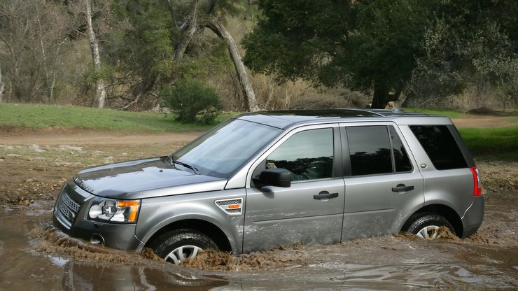
{"label": "shaded green grass patch right of the car's rear window", "polygon": [[458,129],[471,154],[479,159],[518,162],[518,127]]}

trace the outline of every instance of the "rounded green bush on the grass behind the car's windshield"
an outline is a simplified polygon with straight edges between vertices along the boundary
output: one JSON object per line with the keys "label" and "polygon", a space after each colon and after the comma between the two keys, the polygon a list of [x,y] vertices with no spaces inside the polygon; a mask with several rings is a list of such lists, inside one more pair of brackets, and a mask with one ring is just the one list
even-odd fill
{"label": "rounded green bush on the grass behind the car's windshield", "polygon": [[162,106],[172,109],[181,122],[211,124],[221,110],[216,90],[196,79],[183,79],[174,87],[165,87],[161,97]]}

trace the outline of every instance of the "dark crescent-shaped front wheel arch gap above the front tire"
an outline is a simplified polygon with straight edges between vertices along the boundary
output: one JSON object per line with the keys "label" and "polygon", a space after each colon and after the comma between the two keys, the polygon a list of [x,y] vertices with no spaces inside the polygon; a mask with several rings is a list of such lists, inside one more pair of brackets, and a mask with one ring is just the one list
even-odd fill
{"label": "dark crescent-shaped front wheel arch gap above the front tire", "polygon": [[216,243],[216,246],[218,246],[220,250],[229,253],[232,252],[232,246],[228,240],[228,237],[225,235],[225,232],[223,232],[223,230],[221,230],[213,223],[199,219],[179,220],[172,222],[165,227],[162,227],[158,230],[158,232],[155,232],[155,234],[153,234],[153,236],[151,236],[148,241],[146,241],[146,245],[144,247],[148,248],[148,246],[151,245],[162,234],[174,229],[193,229],[198,232],[202,232],[203,234],[209,236],[209,238],[212,239],[214,243]]}

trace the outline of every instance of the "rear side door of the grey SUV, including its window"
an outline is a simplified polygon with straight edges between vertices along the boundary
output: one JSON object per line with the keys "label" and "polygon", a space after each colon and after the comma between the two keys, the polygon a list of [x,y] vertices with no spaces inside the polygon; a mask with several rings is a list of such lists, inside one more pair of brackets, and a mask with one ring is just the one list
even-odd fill
{"label": "rear side door of the grey SUV, including its window", "polygon": [[342,240],[399,232],[424,203],[423,177],[392,123],[342,127]]}

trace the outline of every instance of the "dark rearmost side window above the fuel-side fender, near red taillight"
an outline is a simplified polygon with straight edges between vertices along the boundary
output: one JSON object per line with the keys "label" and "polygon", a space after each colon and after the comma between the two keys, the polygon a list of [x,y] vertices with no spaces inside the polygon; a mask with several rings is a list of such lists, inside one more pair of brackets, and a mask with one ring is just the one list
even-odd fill
{"label": "dark rearmost side window above the fuel-side fender, near red taillight", "polygon": [[410,129],[435,169],[459,169],[468,166],[446,125],[412,125]]}

